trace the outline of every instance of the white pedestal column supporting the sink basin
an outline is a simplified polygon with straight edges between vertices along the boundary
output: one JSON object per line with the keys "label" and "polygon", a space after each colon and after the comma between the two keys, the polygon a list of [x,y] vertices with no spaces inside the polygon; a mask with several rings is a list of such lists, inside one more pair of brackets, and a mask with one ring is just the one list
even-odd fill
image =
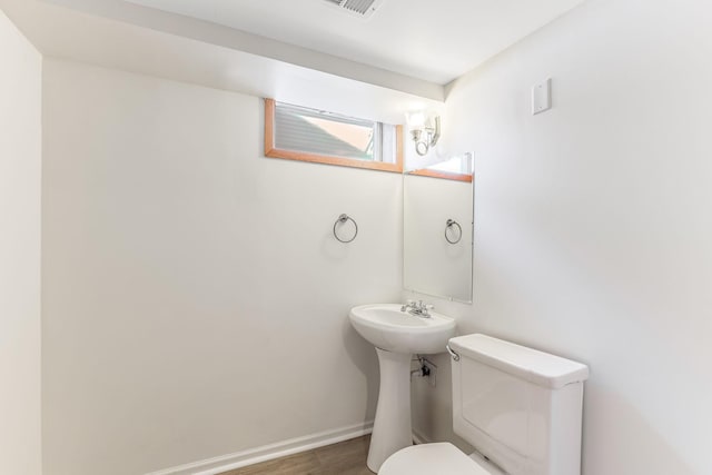
{"label": "white pedestal column supporting the sink basin", "polygon": [[373,472],[394,453],[413,445],[411,355],[376,348],[380,388],[366,464]]}

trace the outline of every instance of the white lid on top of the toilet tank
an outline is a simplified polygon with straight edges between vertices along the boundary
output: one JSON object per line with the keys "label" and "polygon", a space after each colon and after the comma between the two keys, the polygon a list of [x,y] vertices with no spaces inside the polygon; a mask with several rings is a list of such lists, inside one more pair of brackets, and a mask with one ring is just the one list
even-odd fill
{"label": "white lid on top of the toilet tank", "polygon": [[462,356],[551,389],[589,378],[586,365],[487,335],[458,336],[448,346]]}

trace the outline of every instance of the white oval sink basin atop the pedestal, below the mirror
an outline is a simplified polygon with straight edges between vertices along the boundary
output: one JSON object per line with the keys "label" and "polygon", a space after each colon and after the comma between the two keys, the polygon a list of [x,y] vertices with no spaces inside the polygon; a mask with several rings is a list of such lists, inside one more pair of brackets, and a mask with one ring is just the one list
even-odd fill
{"label": "white oval sink basin atop the pedestal, below the mirror", "polygon": [[376,348],[394,353],[445,352],[455,336],[455,320],[431,311],[431,317],[400,311],[399,304],[373,304],[352,308],[352,325]]}

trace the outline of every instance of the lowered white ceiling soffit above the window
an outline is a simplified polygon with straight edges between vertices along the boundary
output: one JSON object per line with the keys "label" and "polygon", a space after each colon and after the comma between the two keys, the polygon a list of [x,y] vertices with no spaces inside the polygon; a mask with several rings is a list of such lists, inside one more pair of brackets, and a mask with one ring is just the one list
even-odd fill
{"label": "lowered white ceiling soffit above the window", "polygon": [[[297,0],[295,0],[297,1]],[[0,0],[46,60],[76,61],[403,123],[439,85],[122,0]]]}

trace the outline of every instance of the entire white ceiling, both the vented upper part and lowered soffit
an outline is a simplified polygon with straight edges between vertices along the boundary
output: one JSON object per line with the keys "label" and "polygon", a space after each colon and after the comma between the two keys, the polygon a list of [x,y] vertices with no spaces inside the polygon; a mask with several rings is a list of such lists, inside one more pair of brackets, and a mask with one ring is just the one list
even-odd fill
{"label": "entire white ceiling, both the vented upper part and lowered soffit", "polygon": [[369,20],[326,0],[0,0],[0,9],[46,58],[403,123],[407,110],[438,110],[445,83],[581,1],[384,0]]}

